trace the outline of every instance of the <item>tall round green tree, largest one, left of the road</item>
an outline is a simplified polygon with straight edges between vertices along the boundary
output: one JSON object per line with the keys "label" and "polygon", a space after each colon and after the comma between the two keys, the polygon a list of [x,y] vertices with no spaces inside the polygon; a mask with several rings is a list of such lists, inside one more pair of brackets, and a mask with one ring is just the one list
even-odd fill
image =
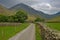
{"label": "tall round green tree, largest one, left of the road", "polygon": [[22,11],[18,11],[16,14],[15,14],[16,18],[18,19],[18,22],[25,22],[25,20],[28,18],[27,17],[27,14],[25,12],[22,12]]}

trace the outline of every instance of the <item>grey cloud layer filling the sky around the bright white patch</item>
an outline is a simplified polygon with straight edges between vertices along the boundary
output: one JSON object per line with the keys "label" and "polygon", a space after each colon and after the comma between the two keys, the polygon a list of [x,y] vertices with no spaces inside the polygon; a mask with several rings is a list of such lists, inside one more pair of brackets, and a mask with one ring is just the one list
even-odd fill
{"label": "grey cloud layer filling the sky around the bright white patch", "polygon": [[47,14],[54,14],[60,11],[60,0],[0,0],[0,4],[4,5],[5,7],[11,7],[19,3],[25,3],[29,6],[37,5],[38,3],[49,3],[52,5],[52,9],[36,7],[37,10],[42,10]]}

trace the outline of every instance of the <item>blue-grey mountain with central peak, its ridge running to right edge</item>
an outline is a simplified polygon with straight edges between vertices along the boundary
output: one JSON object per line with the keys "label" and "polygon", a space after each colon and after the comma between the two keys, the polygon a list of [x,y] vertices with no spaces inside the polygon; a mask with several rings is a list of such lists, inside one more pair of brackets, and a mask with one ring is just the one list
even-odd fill
{"label": "blue-grey mountain with central peak, its ridge running to right edge", "polygon": [[23,3],[17,4],[15,6],[9,8],[9,10],[14,10],[14,11],[21,10],[21,9],[28,12],[29,14],[33,14],[35,16],[39,16],[39,17],[42,17],[42,18],[45,18],[45,19],[51,19],[51,18],[54,18],[56,16],[60,16],[60,13],[59,14],[57,13],[57,14],[54,14],[54,15],[45,14],[44,12],[37,11],[37,10],[35,10],[35,9],[31,8],[30,6],[28,6],[26,4],[23,4]]}

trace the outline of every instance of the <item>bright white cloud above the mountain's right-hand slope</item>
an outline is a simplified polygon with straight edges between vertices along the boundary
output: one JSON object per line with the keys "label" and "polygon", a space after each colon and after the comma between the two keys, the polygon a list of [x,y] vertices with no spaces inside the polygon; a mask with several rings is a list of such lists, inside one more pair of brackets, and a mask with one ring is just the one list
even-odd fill
{"label": "bright white cloud above the mountain's right-hand slope", "polygon": [[49,15],[55,14],[60,11],[60,8],[53,7],[49,3],[40,3],[40,4],[32,5],[31,7],[38,10],[38,11],[39,10],[43,11]]}

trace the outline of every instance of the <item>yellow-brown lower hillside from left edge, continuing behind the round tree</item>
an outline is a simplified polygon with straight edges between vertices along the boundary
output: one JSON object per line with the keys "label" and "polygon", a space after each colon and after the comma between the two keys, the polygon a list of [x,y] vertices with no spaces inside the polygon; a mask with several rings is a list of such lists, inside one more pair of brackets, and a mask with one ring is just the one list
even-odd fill
{"label": "yellow-brown lower hillside from left edge, continuing behind the round tree", "polygon": [[[25,10],[19,8],[20,11],[27,13]],[[8,10],[7,8],[0,5],[0,15],[14,15],[19,10]],[[28,14],[28,13],[27,13]],[[28,14],[28,21],[34,21],[35,16]]]}

